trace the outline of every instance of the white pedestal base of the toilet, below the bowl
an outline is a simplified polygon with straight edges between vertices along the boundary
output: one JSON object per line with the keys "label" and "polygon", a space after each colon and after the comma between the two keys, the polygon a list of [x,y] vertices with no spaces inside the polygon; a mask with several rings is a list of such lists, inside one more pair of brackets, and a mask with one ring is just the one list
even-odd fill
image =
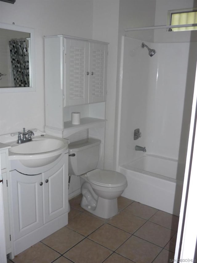
{"label": "white pedestal base of the toilet, below the bowl", "polygon": [[102,218],[110,218],[115,216],[118,213],[118,201],[115,199],[103,199],[98,197],[96,207],[91,207],[87,201],[85,196],[82,197],[81,207],[95,216],[99,216]]}

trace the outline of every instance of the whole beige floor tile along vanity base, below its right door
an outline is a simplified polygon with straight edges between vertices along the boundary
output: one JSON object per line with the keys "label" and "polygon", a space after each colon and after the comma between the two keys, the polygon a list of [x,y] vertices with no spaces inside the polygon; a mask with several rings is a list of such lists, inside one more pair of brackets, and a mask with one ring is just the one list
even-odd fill
{"label": "whole beige floor tile along vanity base, below its right door", "polygon": [[42,240],[44,244],[63,254],[68,249],[80,242],[84,236],[74,232],[70,228],[63,227]]}

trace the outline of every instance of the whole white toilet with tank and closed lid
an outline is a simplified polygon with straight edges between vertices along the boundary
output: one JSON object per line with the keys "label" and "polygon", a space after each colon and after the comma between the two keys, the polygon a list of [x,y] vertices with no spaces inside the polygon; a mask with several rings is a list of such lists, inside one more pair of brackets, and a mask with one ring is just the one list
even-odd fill
{"label": "whole white toilet with tank and closed lid", "polygon": [[126,177],[116,171],[96,169],[101,140],[86,138],[68,145],[68,172],[81,177],[81,207],[110,218],[118,213],[117,198],[127,187]]}

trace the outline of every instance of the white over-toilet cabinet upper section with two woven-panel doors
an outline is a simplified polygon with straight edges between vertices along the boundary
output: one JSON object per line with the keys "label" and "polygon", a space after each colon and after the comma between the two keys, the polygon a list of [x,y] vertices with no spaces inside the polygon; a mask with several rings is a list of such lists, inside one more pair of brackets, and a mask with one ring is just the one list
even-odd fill
{"label": "white over-toilet cabinet upper section with two woven-panel doors", "polygon": [[44,37],[46,127],[65,129],[67,106],[92,104],[85,117],[94,118],[93,104],[106,101],[107,45],[66,35]]}

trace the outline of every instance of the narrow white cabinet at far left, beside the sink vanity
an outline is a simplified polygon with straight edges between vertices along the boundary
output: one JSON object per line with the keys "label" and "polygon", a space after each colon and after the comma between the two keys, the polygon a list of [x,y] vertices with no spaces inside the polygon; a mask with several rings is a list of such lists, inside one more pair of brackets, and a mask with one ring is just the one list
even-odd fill
{"label": "narrow white cabinet at far left, beside the sink vanity", "polygon": [[3,180],[3,210],[5,221],[5,237],[6,237],[6,254],[10,254],[10,258],[14,258],[13,248],[13,235],[12,235],[12,214],[10,204],[10,176],[9,176],[9,160],[8,148],[10,146],[0,143],[0,162],[1,162],[1,175]]}

